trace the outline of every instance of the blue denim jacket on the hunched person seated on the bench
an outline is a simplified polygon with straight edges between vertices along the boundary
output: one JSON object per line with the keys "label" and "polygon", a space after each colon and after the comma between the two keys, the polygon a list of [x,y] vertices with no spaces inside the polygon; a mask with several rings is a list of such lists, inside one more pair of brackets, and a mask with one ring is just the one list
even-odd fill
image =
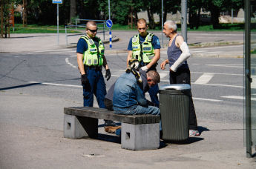
{"label": "blue denim jacket on the hunched person seated on the bench", "polygon": [[114,110],[128,110],[134,105],[148,107],[144,93],[137,84],[132,73],[123,73],[115,83],[113,107]]}

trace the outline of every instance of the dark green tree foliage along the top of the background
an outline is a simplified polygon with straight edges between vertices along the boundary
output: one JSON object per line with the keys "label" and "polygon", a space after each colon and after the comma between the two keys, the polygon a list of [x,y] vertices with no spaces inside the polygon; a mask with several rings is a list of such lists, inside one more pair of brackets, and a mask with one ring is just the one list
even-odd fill
{"label": "dark green tree foliage along the top of the background", "polygon": [[[10,4],[15,1],[22,4],[22,0],[1,0],[4,4]],[[108,19],[108,0],[72,0],[76,1],[76,16],[79,19]],[[6,2],[6,3],[5,3]],[[159,0],[111,0],[111,19],[114,24],[128,24],[131,10],[136,13],[145,10],[148,13],[149,27],[158,29],[161,25],[161,1]],[[166,20],[167,13],[176,13],[180,10],[180,0],[163,1],[163,20]],[[243,0],[188,0],[188,12],[190,25],[195,23],[193,27],[199,27],[199,11],[203,10],[211,12],[211,23],[214,29],[220,28],[219,17],[220,12],[229,11],[231,9],[238,10],[243,7]],[[160,15],[160,23],[155,23],[154,13]],[[16,14],[18,15],[18,14]],[[70,19],[70,0],[63,0],[63,4],[59,4],[59,24],[74,23],[74,19]],[[18,21],[18,20],[16,20]],[[20,21],[18,21],[20,23]],[[50,0],[27,0],[27,24],[56,24],[56,4]],[[85,23],[82,23],[85,24]]]}

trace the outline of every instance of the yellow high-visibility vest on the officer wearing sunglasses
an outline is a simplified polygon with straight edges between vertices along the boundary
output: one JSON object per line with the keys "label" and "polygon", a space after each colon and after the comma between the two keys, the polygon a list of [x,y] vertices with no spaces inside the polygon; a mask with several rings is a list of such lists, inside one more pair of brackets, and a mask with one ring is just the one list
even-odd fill
{"label": "yellow high-visibility vest on the officer wearing sunglasses", "polygon": [[88,44],[88,49],[84,53],[83,63],[88,66],[102,66],[105,50],[102,41],[98,37],[95,37],[99,42],[99,47],[96,47],[93,39],[89,39],[88,36],[81,36],[81,38],[85,39]]}

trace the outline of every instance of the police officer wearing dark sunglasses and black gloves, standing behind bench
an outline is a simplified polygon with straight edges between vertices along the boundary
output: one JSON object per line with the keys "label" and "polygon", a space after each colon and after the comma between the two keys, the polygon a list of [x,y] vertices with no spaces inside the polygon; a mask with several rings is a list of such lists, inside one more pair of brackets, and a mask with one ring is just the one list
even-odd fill
{"label": "police officer wearing dark sunglasses and black gloves, standing behind bench", "polygon": [[76,48],[77,63],[81,73],[84,106],[93,107],[93,94],[96,96],[100,108],[105,108],[104,99],[106,86],[102,75],[102,66],[105,67],[105,78],[111,78],[107,60],[104,56],[104,45],[96,36],[95,21],[86,24],[86,35],[81,36]]}

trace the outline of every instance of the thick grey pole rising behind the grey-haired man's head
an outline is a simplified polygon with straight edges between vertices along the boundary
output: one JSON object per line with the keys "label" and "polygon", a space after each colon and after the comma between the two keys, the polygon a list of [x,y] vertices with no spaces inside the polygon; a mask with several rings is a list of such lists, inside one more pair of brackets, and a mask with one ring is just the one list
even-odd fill
{"label": "thick grey pole rising behind the grey-haired man's head", "polygon": [[187,0],[181,0],[181,35],[187,42]]}

